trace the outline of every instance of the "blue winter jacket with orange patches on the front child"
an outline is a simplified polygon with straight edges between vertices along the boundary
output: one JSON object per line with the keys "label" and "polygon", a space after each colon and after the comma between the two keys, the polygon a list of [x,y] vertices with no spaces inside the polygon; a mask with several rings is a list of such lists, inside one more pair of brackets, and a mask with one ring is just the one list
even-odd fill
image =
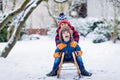
{"label": "blue winter jacket with orange patches on the front child", "polygon": [[54,53],[54,57],[55,58],[60,57],[60,53],[64,52],[65,53],[64,58],[69,59],[69,58],[72,58],[72,52],[74,51],[80,52],[80,54],[82,54],[81,48],[77,43],[73,41],[68,41],[68,42],[62,41],[62,43],[60,43],[57,46],[57,49],[55,50],[55,53]]}

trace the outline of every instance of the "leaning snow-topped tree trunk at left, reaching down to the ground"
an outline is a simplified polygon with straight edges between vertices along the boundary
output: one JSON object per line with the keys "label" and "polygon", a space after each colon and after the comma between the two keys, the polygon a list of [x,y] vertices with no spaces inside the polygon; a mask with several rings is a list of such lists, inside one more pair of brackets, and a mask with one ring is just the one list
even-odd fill
{"label": "leaning snow-topped tree trunk at left, reaching down to the ground", "polygon": [[[34,5],[29,5],[28,8],[26,8],[24,10],[24,13],[21,14],[23,15],[23,17],[19,17],[19,21],[18,23],[18,26],[15,26],[15,28],[17,29],[14,29],[14,32],[12,34],[12,37],[10,38],[8,44],[5,46],[4,50],[2,51],[2,57],[6,58],[9,54],[9,52],[11,51],[11,49],[14,47],[14,45],[16,44],[17,40],[18,40],[18,36],[20,35],[20,31],[25,23],[25,21],[27,20],[27,18],[29,17],[29,15],[33,12],[33,10],[42,2],[42,1],[45,1],[45,0],[36,0],[34,2]],[[35,5],[36,4],[36,5]],[[26,14],[25,14],[26,13]]]}

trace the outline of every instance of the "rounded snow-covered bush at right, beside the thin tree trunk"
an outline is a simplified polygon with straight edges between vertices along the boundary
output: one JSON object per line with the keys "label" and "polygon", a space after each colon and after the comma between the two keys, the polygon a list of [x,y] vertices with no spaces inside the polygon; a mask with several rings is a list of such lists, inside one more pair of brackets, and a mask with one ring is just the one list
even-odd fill
{"label": "rounded snow-covered bush at right, beside the thin tree trunk", "polygon": [[114,23],[112,19],[107,22],[101,22],[96,26],[97,27],[93,31],[95,35],[95,38],[93,39],[94,43],[101,43],[111,39],[111,33],[113,33],[114,30]]}

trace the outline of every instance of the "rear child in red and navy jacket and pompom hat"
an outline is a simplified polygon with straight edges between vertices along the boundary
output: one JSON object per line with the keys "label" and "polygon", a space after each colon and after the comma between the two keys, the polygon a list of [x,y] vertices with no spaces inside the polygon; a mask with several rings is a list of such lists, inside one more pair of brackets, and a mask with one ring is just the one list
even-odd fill
{"label": "rear child in red and navy jacket and pompom hat", "polygon": [[72,30],[72,32],[73,32],[73,39],[74,39],[74,41],[79,43],[79,34],[78,34],[78,32],[74,29],[73,26],[71,26],[70,22],[67,20],[67,17],[64,15],[64,13],[60,13],[60,15],[58,17],[58,28],[56,30],[57,35],[55,37],[56,45],[58,45],[60,43],[59,31],[63,27],[69,27]]}

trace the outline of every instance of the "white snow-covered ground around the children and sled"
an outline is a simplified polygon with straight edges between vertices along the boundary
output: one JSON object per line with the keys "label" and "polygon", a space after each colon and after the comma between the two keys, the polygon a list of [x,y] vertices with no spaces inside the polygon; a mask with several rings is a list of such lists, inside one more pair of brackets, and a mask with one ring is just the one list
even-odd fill
{"label": "white snow-covered ground around the children and sled", "polygon": [[[0,43],[0,50],[5,44]],[[80,80],[120,80],[120,42],[93,44],[89,39],[81,39],[79,45],[84,52],[85,67],[93,73]],[[0,58],[0,80],[57,80],[57,77],[46,77],[53,66],[55,48],[54,39],[47,36],[18,41],[7,58]],[[76,70],[62,70],[58,80],[79,79]]]}

